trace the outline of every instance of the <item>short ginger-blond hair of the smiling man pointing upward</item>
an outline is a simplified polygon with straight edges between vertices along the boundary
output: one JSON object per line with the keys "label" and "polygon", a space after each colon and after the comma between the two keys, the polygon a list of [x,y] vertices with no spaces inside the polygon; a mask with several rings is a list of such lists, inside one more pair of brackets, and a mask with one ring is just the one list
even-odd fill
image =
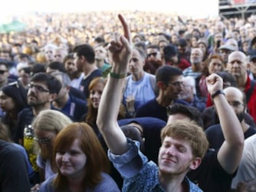
{"label": "short ginger-blond hair of the smiling man pointing upward", "polygon": [[203,128],[192,120],[177,120],[174,123],[166,125],[161,130],[161,141],[170,136],[179,140],[188,142],[192,148],[193,157],[205,156],[208,149],[208,140]]}

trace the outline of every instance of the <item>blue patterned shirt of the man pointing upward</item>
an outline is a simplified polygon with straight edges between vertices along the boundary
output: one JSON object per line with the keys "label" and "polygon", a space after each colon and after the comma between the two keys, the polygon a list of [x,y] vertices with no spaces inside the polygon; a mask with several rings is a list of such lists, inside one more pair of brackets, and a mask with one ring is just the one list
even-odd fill
{"label": "blue patterned shirt of the man pointing upward", "polygon": [[[114,167],[124,178],[122,191],[164,191],[158,180],[158,166],[150,161],[139,151],[139,142],[127,140],[130,146],[129,151],[121,156],[117,156],[108,151],[108,156]],[[197,185],[192,183],[187,177],[184,182],[189,186],[190,192],[202,192]]]}

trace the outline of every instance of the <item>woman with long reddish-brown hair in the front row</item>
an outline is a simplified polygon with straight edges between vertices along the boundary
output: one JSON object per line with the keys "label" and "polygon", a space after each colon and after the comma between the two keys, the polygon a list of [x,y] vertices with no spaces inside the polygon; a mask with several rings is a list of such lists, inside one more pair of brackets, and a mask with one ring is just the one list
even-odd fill
{"label": "woman with long reddish-brown hair in the front row", "polygon": [[40,191],[119,191],[107,174],[109,162],[98,138],[87,123],[72,123],[54,141],[58,173]]}

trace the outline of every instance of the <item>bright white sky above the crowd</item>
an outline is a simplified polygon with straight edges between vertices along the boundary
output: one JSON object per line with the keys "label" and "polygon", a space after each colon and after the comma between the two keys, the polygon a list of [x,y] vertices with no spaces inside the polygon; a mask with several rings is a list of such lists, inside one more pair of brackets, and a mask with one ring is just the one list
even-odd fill
{"label": "bright white sky above the crowd", "polygon": [[[15,6],[14,6],[15,5]],[[151,10],[194,18],[218,15],[218,0],[7,0],[0,19],[27,12],[80,12],[84,10]]]}

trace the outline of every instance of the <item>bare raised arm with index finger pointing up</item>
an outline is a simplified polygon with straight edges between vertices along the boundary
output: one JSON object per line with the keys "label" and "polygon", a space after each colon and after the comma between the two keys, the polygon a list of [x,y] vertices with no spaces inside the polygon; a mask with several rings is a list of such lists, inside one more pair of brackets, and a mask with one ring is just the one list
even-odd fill
{"label": "bare raised arm with index finger pointing up", "polygon": [[118,15],[124,29],[124,35],[114,33],[114,39],[109,45],[113,59],[113,68],[108,78],[100,100],[97,125],[108,148],[113,154],[124,154],[128,150],[126,136],[117,123],[117,115],[125,83],[127,65],[131,56],[130,30],[122,17]]}

